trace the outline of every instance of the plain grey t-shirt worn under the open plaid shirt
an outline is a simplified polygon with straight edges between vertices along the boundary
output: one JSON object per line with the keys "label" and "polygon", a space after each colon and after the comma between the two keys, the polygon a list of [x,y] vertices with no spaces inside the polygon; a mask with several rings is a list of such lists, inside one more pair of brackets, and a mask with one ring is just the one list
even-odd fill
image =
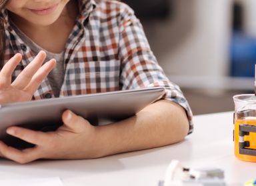
{"label": "plain grey t-shirt worn under the open plaid shirt", "polygon": [[31,48],[31,51],[35,53],[39,53],[39,51],[43,50],[47,54],[46,61],[49,61],[50,59],[56,59],[57,63],[55,68],[49,73],[47,76],[49,79],[49,83],[51,84],[51,87],[53,89],[53,93],[55,97],[59,97],[59,93],[61,91],[61,86],[64,79],[64,52],[62,53],[51,53],[49,51],[46,51],[36,43],[34,43],[25,33],[23,33],[13,22],[11,22],[11,26],[19,35],[19,37],[26,43],[28,47]]}

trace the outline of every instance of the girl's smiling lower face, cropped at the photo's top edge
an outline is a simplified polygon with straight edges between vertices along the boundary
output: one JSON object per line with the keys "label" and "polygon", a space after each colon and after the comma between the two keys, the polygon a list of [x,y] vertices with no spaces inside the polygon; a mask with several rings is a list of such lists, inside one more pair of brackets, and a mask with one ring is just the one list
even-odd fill
{"label": "girl's smiling lower face, cropped at the photo's top edge", "polygon": [[35,25],[51,25],[54,23],[69,0],[9,0],[6,8],[14,15]]}

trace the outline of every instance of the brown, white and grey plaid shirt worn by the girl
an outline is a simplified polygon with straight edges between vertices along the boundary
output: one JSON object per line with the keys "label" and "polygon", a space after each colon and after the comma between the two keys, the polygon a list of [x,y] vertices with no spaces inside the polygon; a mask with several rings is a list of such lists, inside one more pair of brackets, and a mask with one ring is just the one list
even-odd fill
{"label": "brown, white and grey plaid shirt worn by the girl", "polygon": [[[140,87],[165,87],[162,99],[169,99],[184,107],[191,133],[192,113],[187,100],[158,65],[133,11],[123,3],[109,0],[99,3],[81,0],[79,8],[80,15],[64,51],[65,77],[60,97]],[[23,55],[23,60],[13,73],[15,79],[35,55],[9,25],[6,10],[1,11],[1,17],[5,19],[5,63],[15,53]],[[33,99],[53,96],[46,78]]]}

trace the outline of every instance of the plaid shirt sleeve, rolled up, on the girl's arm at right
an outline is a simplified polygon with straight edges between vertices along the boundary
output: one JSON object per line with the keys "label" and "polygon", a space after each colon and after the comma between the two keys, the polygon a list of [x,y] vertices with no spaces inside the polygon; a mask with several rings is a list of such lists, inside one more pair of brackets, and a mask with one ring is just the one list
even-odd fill
{"label": "plaid shirt sleeve, rolled up, on the girl's arm at right", "polygon": [[189,134],[193,132],[193,114],[187,99],[175,83],[169,81],[149,47],[143,27],[133,10],[123,5],[120,16],[119,59],[121,59],[122,89],[165,87],[161,99],[181,105],[189,120]]}

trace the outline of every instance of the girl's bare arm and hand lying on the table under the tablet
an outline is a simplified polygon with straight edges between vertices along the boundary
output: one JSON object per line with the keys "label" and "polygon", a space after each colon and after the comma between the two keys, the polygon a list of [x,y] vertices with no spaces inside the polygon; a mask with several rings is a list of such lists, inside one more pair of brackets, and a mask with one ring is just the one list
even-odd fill
{"label": "girl's bare arm and hand lying on the table under the tablet", "polygon": [[92,159],[177,143],[189,130],[184,109],[167,100],[152,103],[134,117],[109,125],[94,127],[71,111],[63,113],[63,123],[57,131],[48,133],[10,127],[9,135],[35,147],[19,150],[0,142],[0,155],[19,163],[35,159]]}

